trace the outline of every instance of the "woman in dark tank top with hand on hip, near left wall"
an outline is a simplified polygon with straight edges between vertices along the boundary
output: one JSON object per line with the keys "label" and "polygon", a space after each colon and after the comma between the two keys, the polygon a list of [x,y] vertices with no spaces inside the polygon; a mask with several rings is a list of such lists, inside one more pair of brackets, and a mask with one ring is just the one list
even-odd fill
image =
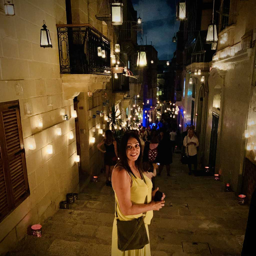
{"label": "woman in dark tank top with hand on hip, near left wall", "polygon": [[[105,150],[102,150],[100,147],[104,144]],[[116,140],[114,138],[113,132],[111,130],[106,130],[104,139],[97,145],[97,148],[104,153],[104,164],[106,171],[106,185],[112,186],[111,183],[111,174],[114,166],[117,162],[117,146]],[[108,176],[110,174],[110,181]]]}

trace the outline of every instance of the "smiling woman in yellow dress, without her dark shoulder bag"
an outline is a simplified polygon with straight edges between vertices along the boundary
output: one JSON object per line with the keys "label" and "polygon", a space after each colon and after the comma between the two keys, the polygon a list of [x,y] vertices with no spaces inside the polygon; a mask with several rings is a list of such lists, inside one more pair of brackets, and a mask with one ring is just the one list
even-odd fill
{"label": "smiling woman in yellow dress, without her dark shoulder bag", "polygon": [[[119,220],[128,221],[140,218],[146,212],[144,218],[145,227],[148,234],[148,225],[153,217],[153,210],[159,211],[164,206],[164,197],[155,202],[156,190],[152,192],[152,182],[144,175],[142,170],[142,154],[140,139],[135,132],[124,134],[120,145],[120,161],[112,172],[112,186],[115,191],[116,212]],[[145,180],[145,181],[144,181]],[[147,203],[145,198],[147,196]],[[112,256],[150,256],[150,244],[146,244],[142,249],[120,251],[117,247],[117,226],[116,216],[112,229]],[[149,234],[148,234],[149,240]]]}

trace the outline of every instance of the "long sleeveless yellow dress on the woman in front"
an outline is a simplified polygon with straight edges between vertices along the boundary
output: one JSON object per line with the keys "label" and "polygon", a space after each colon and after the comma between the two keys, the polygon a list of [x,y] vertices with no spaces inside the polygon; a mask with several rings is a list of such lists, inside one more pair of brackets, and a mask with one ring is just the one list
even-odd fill
{"label": "long sleeveless yellow dress on the woman in front", "polygon": [[[146,183],[141,180],[140,178],[135,178],[133,175],[132,177],[132,186],[131,186],[131,201],[132,204],[144,204],[145,198],[148,195],[148,203],[151,202],[152,199],[152,182],[151,180],[144,175]],[[115,191],[115,190],[114,190]],[[115,199],[116,199],[116,211],[119,220],[133,220],[140,218],[142,213],[136,215],[127,215],[124,216],[120,210],[118,199],[115,192]],[[144,218],[145,227],[148,233],[148,225],[150,224],[151,219],[153,218],[153,211],[148,211],[146,213],[146,217]],[[148,234],[149,240],[149,234]],[[142,249],[138,250],[129,250],[129,251],[120,251],[117,248],[117,227],[116,227],[116,217],[113,223],[112,229],[112,248],[111,248],[111,256],[150,256],[150,244],[146,244]]]}

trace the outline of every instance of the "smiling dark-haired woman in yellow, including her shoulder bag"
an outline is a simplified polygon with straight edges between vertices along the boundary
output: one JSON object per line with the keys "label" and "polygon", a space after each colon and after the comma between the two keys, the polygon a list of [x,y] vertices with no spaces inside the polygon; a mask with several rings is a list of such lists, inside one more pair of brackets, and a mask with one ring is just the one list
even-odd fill
{"label": "smiling dark-haired woman in yellow, including her shoulder bag", "polygon": [[151,180],[143,175],[141,145],[136,132],[124,134],[120,145],[120,161],[112,173],[115,192],[115,219],[112,230],[112,256],[150,256],[148,225],[153,210],[164,206],[152,201]]}

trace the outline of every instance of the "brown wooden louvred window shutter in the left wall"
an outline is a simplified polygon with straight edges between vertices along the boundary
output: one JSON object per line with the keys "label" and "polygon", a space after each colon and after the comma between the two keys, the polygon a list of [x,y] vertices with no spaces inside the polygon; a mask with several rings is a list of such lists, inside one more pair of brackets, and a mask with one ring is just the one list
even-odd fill
{"label": "brown wooden louvred window shutter in the left wall", "polygon": [[0,103],[0,221],[29,195],[19,101]]}

